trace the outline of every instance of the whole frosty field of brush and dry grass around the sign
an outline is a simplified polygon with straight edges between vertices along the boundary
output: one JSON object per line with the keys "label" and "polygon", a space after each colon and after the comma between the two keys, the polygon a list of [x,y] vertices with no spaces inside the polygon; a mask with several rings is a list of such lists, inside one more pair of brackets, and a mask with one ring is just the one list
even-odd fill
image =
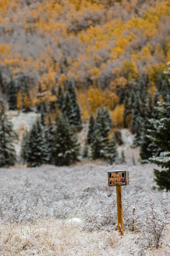
{"label": "whole frosty field of brush and dry grass around the sign", "polygon": [[[0,169],[1,255],[170,255],[170,193],[153,190],[153,164],[79,163]],[[126,169],[125,236],[107,171]],[[157,248],[158,247],[158,248]]]}

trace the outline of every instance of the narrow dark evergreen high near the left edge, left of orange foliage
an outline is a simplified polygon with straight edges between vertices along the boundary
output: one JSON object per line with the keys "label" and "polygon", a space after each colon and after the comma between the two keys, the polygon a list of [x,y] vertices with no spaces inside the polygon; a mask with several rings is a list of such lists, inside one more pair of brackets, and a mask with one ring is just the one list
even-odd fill
{"label": "narrow dark evergreen high near the left edge, left of orange foliage", "polygon": [[9,110],[16,110],[17,109],[17,88],[15,86],[15,82],[11,77],[10,82],[7,85],[7,99]]}

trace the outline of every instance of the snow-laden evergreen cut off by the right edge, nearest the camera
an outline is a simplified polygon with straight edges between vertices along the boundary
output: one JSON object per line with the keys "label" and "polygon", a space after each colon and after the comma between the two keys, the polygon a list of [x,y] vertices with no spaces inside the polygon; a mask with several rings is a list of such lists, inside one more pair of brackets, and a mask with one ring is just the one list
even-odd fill
{"label": "snow-laden evergreen cut off by the right edge, nearest the camera", "polygon": [[150,119],[152,129],[148,132],[150,140],[160,147],[161,153],[150,160],[162,168],[161,171],[154,169],[157,185],[160,189],[170,190],[170,96],[167,96],[167,102],[159,102],[155,110],[159,119]]}

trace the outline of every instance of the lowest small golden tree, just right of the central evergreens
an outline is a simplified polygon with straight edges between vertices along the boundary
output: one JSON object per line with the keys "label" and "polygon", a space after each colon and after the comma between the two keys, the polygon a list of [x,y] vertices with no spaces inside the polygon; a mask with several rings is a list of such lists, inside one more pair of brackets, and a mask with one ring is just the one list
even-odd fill
{"label": "lowest small golden tree, just right of the central evergreens", "polygon": [[112,122],[114,127],[122,128],[124,126],[124,104],[117,105],[112,111]]}

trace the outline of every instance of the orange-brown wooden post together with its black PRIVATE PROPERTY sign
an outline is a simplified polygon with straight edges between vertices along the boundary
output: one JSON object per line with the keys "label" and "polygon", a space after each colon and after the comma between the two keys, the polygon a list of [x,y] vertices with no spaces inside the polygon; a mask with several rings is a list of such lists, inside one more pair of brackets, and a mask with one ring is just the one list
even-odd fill
{"label": "orange-brown wooden post together with its black PRIVATE PROPERTY sign", "polygon": [[129,185],[129,172],[126,172],[126,170],[109,170],[108,185],[116,186],[118,231],[122,236],[124,236],[122,186]]}

